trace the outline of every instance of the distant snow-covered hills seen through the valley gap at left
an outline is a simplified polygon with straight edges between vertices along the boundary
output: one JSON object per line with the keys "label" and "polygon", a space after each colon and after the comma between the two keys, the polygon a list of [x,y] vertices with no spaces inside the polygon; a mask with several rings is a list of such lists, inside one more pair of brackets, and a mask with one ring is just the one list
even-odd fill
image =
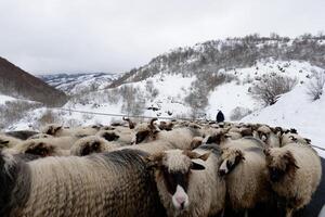
{"label": "distant snow-covered hills seen through the valley gap at left", "polygon": [[80,73],[40,75],[48,85],[60,89],[67,94],[77,94],[87,91],[104,89],[119,75],[108,73]]}

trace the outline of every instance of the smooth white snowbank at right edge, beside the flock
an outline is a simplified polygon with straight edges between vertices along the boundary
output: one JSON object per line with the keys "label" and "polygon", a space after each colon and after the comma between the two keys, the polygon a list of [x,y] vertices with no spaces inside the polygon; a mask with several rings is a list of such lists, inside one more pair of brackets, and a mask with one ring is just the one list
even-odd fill
{"label": "smooth white snowbank at right edge, beside the flock", "polygon": [[[296,128],[312,144],[325,149],[325,97],[312,102],[307,86],[298,86],[284,94],[274,105],[255,112],[242,119],[245,123],[264,123],[271,126]],[[325,152],[316,149],[322,156]]]}

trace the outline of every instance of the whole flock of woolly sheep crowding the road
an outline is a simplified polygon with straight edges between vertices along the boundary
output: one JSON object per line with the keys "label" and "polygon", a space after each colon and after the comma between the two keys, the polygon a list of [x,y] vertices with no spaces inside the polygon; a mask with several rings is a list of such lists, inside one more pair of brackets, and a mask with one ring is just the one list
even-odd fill
{"label": "whole flock of woolly sheep crowding the road", "polygon": [[295,216],[322,165],[295,129],[133,123],[0,135],[0,216]]}

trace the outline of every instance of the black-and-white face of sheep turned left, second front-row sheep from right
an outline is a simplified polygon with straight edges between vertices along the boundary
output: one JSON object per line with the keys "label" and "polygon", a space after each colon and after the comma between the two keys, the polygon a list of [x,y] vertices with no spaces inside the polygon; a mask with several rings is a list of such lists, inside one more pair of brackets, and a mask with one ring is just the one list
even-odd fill
{"label": "black-and-white face of sheep turned left, second front-row sheep from right", "polygon": [[221,155],[222,163],[219,167],[219,175],[225,176],[230,174],[242,161],[245,159],[240,150],[225,149]]}

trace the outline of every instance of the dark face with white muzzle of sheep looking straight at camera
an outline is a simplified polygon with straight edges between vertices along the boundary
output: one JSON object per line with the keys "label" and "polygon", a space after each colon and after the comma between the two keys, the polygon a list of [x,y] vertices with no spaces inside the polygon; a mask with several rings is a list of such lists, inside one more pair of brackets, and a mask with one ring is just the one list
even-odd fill
{"label": "dark face with white muzzle of sheep looking straight at camera", "polygon": [[192,170],[205,169],[203,165],[192,159],[206,161],[208,156],[209,154],[199,155],[190,151],[171,150],[148,157],[151,167],[156,169],[156,181],[162,179],[158,190],[168,192],[169,200],[177,210],[185,210],[191,203],[187,190]]}

